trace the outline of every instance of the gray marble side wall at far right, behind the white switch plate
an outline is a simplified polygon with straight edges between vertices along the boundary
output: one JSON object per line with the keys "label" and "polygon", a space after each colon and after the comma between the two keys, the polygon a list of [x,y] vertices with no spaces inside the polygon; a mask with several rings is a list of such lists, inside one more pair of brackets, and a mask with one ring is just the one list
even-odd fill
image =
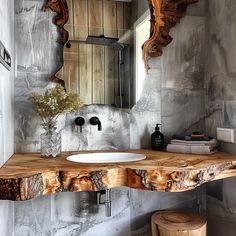
{"label": "gray marble side wall at far right, behind the white switch plate", "polygon": [[[236,105],[236,2],[208,0],[206,15],[206,129],[235,128]],[[235,144],[222,150],[236,153]],[[236,232],[236,179],[208,185],[209,235],[234,236]]]}

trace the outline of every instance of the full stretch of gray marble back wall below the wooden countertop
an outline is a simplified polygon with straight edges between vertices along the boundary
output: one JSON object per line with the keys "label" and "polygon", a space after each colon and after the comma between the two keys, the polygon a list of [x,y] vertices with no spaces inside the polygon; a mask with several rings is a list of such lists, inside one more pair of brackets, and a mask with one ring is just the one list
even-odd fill
{"label": "full stretch of gray marble back wall below the wooden countertop", "polygon": [[95,193],[43,196],[15,203],[15,236],[150,236],[155,211],[185,209],[204,213],[205,196],[205,186],[186,193],[114,188],[109,218],[105,217],[104,205],[95,205]]}

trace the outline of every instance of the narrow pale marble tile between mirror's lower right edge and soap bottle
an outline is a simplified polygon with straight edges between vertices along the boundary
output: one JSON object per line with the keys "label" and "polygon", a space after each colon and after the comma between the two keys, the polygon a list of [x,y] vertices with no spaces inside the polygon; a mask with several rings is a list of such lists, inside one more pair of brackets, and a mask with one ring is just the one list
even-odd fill
{"label": "narrow pale marble tile between mirror's lower right edge and soap bottle", "polygon": [[131,111],[131,149],[150,147],[155,125],[161,123],[161,60],[153,58],[149,66],[140,99]]}

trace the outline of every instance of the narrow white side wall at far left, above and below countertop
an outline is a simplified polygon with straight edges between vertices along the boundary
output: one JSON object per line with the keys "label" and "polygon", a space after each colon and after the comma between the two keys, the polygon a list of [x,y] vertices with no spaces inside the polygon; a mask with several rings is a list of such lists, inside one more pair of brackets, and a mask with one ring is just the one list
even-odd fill
{"label": "narrow white side wall at far left, above and below countertop", "polygon": [[[0,0],[0,40],[9,51],[12,60],[8,71],[0,64],[0,166],[14,152],[14,0]],[[0,235],[13,235],[14,204],[0,201]]]}

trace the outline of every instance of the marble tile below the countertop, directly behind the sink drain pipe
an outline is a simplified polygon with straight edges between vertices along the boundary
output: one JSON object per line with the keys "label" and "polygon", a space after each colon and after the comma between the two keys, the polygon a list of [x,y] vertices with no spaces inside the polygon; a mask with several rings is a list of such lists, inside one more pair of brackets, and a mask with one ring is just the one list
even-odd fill
{"label": "marble tile below the countertop, directly behind the sink drain pipe", "polygon": [[[114,188],[111,192],[112,216],[105,216],[105,207],[96,207],[94,193],[63,193],[52,197],[52,232],[54,236],[130,235],[130,200],[128,188]],[[89,206],[82,206],[82,201]],[[62,204],[63,202],[63,204]],[[83,208],[83,209],[82,209]]]}

